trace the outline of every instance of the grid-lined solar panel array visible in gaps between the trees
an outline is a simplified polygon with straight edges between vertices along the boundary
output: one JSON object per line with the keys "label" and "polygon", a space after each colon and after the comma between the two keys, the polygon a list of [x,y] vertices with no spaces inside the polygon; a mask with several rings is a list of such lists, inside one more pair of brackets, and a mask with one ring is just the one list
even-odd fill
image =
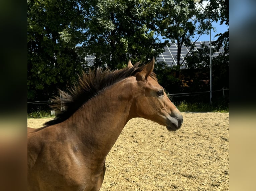
{"label": "grid-lined solar panel array visible in gaps between the trees", "polygon": [[[198,51],[198,49],[201,48],[202,44],[205,44],[206,46],[209,47],[210,41],[195,42],[196,48],[194,50]],[[164,47],[164,52],[161,53],[158,57],[156,57],[156,62],[161,62],[161,61],[165,62],[169,67],[177,66],[177,49],[178,49],[177,43],[172,43],[169,46],[166,45]],[[184,58],[188,55],[189,49],[190,49],[189,47],[185,47],[184,45],[182,45],[181,47],[180,63],[183,62],[183,66],[181,66],[181,69],[185,68],[186,61],[184,61]],[[212,58],[217,57],[220,52],[224,52],[223,48],[220,48],[219,52],[213,53]],[[88,66],[93,66],[94,59],[95,59],[94,56],[85,57],[85,61],[87,62]]]}

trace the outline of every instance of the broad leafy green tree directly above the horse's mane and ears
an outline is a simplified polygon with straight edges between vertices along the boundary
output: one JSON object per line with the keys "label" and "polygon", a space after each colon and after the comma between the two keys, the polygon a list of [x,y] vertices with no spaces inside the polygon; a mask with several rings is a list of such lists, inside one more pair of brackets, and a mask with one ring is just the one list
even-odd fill
{"label": "broad leafy green tree directly above the horse's mane and ears", "polygon": [[155,30],[159,7],[159,0],[98,0],[82,48],[96,57],[96,66],[116,69],[126,66],[129,59],[133,63],[147,62],[158,56],[165,45]]}

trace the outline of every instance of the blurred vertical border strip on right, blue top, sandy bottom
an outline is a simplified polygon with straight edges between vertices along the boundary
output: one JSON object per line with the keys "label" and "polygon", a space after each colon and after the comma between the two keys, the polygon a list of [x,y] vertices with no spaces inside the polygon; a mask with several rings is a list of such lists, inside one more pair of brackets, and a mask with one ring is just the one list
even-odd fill
{"label": "blurred vertical border strip on right, blue top, sandy bottom", "polygon": [[255,190],[256,2],[230,1],[230,190]]}

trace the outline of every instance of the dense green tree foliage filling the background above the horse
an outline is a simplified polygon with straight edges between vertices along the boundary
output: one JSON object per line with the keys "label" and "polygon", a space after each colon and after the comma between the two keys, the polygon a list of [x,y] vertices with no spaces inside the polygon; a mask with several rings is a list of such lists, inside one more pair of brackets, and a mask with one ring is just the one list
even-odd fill
{"label": "dense green tree foliage filling the background above the horse", "polygon": [[[228,23],[226,5],[226,0],[211,1],[206,7],[211,20]],[[177,42],[179,58],[183,43],[208,31],[206,18],[191,0],[28,0],[29,99],[46,99],[58,88],[71,87],[86,55],[95,56],[95,67],[114,70],[129,59],[148,62],[167,42]],[[219,35],[217,47],[227,45],[227,35]],[[181,65],[175,77],[166,73],[163,80],[178,77]]]}

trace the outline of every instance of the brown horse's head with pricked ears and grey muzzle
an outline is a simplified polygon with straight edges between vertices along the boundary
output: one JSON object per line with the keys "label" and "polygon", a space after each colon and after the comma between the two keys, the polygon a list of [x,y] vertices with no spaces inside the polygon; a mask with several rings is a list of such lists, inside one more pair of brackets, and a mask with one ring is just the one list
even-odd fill
{"label": "brown horse's head with pricked ears and grey muzzle", "polygon": [[[181,127],[183,117],[153,75],[154,62],[153,58],[135,75],[137,91],[134,93],[133,113],[166,126],[169,131],[176,131]],[[128,67],[131,66],[129,61]]]}

